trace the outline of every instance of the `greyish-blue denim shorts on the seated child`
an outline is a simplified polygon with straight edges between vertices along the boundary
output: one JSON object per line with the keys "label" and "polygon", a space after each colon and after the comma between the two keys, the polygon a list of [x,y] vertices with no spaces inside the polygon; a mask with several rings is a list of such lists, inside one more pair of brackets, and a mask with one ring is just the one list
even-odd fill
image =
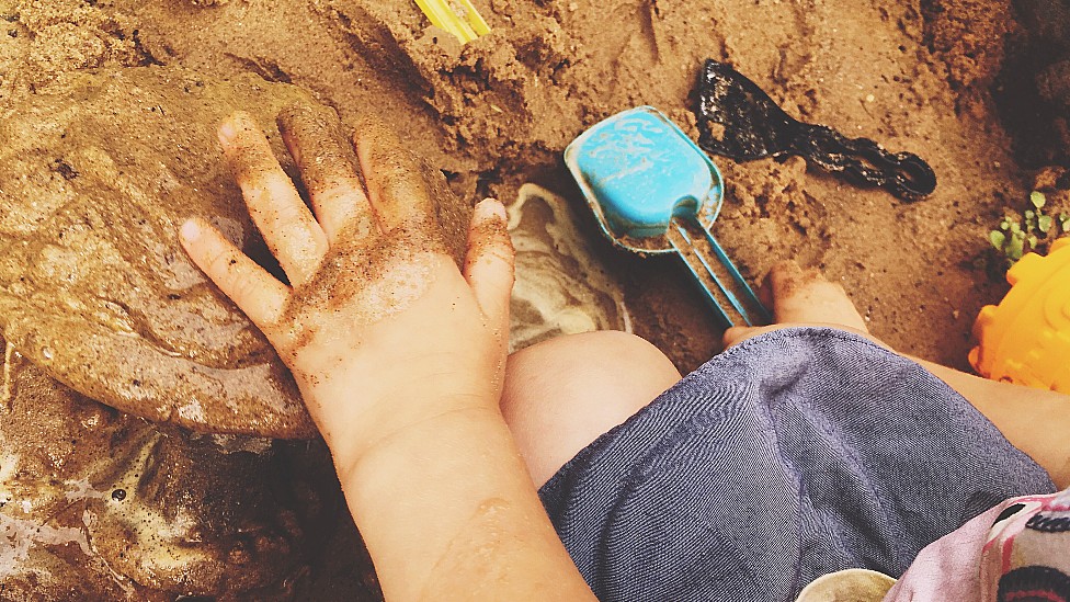
{"label": "greyish-blue denim shorts on the seated child", "polygon": [[601,600],[792,601],[900,576],[1047,473],[917,363],[828,328],[740,343],[581,451],[539,496]]}

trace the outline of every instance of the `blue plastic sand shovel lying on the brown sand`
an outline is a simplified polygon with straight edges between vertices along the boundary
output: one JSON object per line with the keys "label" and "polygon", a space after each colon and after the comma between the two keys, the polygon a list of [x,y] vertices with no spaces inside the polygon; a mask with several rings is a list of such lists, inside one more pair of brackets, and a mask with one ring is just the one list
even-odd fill
{"label": "blue plastic sand shovel lying on the brown sand", "polygon": [[617,113],[565,149],[602,231],[641,255],[678,253],[726,326],[770,323],[769,311],[709,228],[720,211],[720,172],[652,106]]}

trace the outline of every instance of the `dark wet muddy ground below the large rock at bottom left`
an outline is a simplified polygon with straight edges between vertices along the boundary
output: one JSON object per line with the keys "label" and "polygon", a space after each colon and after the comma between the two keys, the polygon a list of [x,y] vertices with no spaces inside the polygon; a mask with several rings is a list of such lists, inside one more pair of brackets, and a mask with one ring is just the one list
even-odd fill
{"label": "dark wet muddy ground below the large rock at bottom left", "polygon": [[153,424],[11,345],[2,368],[0,599],[276,600],[306,587],[344,516],[316,482],[330,476],[321,446]]}

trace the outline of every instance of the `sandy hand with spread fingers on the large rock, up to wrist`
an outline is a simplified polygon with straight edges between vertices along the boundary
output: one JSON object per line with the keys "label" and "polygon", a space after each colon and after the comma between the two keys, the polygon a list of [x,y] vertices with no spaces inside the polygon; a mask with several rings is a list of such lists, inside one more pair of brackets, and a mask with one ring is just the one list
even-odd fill
{"label": "sandy hand with spread fingers on the large rock, up to wrist", "polygon": [[224,122],[219,140],[291,285],[203,222],[186,222],[181,239],[293,371],[335,456],[496,405],[513,283],[504,207],[476,206],[462,273],[431,186],[392,132],[368,124],[354,152],[331,110],[296,106],[278,122],[315,216],[248,114]]}

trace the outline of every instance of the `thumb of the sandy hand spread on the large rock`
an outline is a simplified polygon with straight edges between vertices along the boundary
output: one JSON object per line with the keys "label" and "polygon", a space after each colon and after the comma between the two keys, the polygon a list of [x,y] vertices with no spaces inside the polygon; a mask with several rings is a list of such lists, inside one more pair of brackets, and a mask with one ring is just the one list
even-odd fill
{"label": "thumb of the sandy hand spread on the large rock", "polygon": [[492,323],[509,326],[509,297],[513,289],[513,243],[505,227],[505,207],[493,198],[476,205],[468,229],[465,280]]}

